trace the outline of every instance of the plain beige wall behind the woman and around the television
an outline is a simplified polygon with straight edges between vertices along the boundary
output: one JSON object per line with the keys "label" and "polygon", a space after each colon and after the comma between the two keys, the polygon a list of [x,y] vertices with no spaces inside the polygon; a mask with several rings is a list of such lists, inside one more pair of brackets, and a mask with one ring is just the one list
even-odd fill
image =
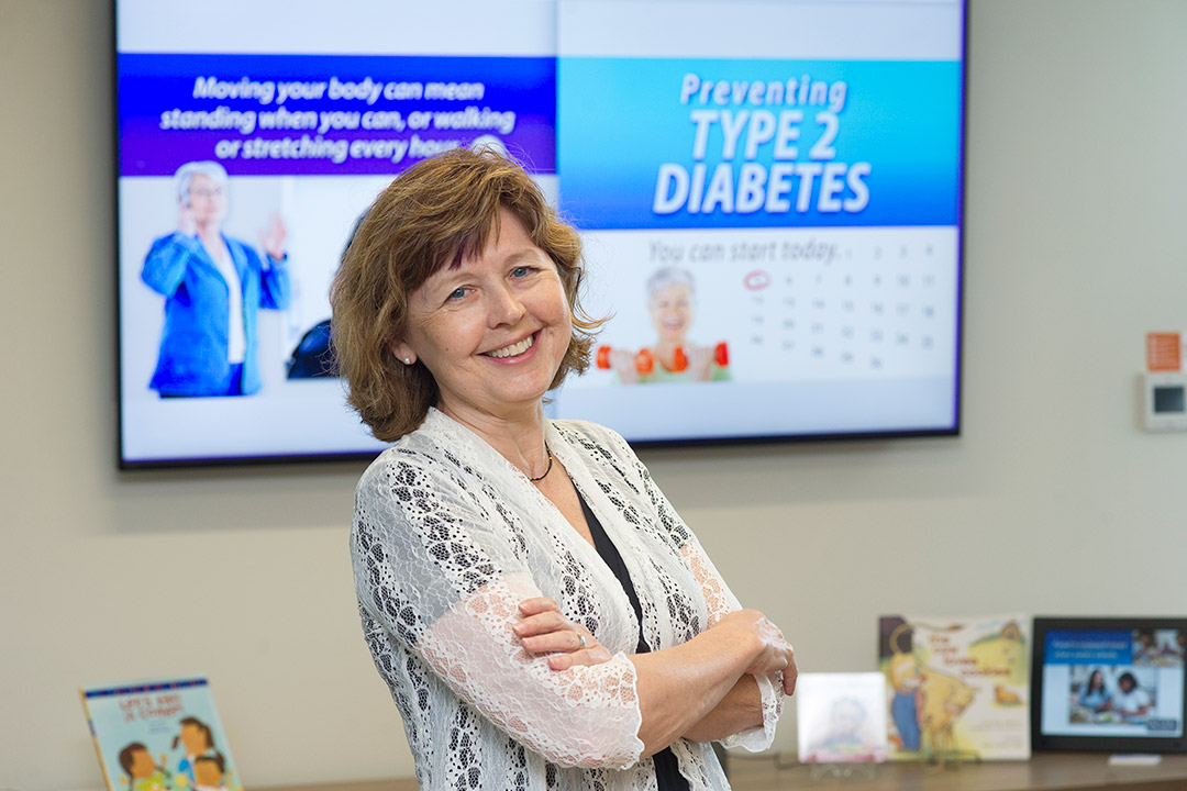
{"label": "plain beige wall behind the woman and around the television", "polygon": [[[0,0],[0,787],[99,787],[76,687],[190,672],[249,786],[410,774],[354,612],[361,465],[115,470],[109,13]],[[1187,610],[1187,435],[1136,389],[1143,333],[1187,330],[1183,31],[975,0],[960,438],[645,454],[804,670],[870,669],[883,612]]]}

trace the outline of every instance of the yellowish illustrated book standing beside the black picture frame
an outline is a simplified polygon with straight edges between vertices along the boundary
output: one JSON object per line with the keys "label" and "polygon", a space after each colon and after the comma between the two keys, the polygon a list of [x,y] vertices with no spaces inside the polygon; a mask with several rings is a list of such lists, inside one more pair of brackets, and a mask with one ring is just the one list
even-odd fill
{"label": "yellowish illustrated book standing beside the black picture frame", "polygon": [[886,615],[891,760],[1030,758],[1029,618]]}

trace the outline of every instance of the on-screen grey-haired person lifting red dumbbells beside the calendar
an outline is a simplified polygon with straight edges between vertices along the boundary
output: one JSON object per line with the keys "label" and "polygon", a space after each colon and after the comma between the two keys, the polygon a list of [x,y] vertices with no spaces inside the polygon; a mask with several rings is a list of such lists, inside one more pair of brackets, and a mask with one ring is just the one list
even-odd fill
{"label": "on-screen grey-haired person lifting red dumbbells beside the calendar", "polygon": [[599,346],[597,366],[612,370],[621,384],[729,381],[726,344],[703,346],[688,337],[696,298],[692,273],[678,267],[658,269],[647,280],[647,310],[655,342],[641,349]]}

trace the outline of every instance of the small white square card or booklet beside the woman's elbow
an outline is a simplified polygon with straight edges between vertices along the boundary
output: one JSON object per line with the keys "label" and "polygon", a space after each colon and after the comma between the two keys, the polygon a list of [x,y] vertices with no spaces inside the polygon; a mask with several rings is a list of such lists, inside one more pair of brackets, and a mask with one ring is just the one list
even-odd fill
{"label": "small white square card or booklet beside the woman's elbow", "polygon": [[880,672],[801,672],[795,681],[800,763],[884,761],[884,690]]}

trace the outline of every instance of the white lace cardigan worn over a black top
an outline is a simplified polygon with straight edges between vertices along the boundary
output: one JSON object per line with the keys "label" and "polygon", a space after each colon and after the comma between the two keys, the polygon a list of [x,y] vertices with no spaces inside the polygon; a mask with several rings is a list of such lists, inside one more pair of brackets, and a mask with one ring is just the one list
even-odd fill
{"label": "white lace cardigan worn over a black top", "polygon": [[[351,555],[363,631],[392,690],[421,789],[649,790],[640,759],[635,651],[671,648],[738,607],[688,528],[614,432],[553,421],[553,454],[630,572],[617,578],[560,511],[476,434],[432,409],[367,470]],[[523,599],[552,597],[610,662],[551,670],[512,633]],[[763,726],[725,740],[770,745],[782,695],[758,678]],[[693,791],[728,789],[707,744],[672,745]]]}

